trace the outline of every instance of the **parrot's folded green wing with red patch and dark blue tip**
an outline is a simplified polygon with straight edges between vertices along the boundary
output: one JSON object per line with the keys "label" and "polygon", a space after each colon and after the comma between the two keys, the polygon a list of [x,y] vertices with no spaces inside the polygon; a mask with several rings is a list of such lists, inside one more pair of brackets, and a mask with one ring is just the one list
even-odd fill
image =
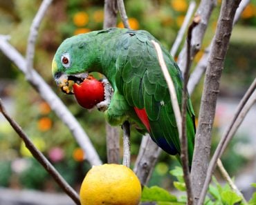
{"label": "parrot's folded green wing with red patch and dark blue tip", "polygon": [[[152,139],[171,155],[180,154],[179,133],[169,90],[156,51],[148,32],[128,30],[117,43],[116,86],[133,107],[147,128]],[[174,81],[176,95],[181,106],[182,77],[179,67],[170,54],[162,48],[165,63]],[[187,130],[189,155],[192,159],[194,145],[194,111],[188,100]]]}

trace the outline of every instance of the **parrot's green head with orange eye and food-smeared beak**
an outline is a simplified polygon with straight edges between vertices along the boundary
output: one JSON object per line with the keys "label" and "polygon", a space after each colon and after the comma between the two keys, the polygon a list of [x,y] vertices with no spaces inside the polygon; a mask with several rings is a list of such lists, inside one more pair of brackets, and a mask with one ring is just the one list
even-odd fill
{"label": "parrot's green head with orange eye and food-smeared beak", "polygon": [[[93,71],[93,48],[89,35],[77,35],[62,42],[52,63],[57,86],[66,94],[73,94],[73,84],[81,84]],[[94,69],[95,70],[95,69]]]}

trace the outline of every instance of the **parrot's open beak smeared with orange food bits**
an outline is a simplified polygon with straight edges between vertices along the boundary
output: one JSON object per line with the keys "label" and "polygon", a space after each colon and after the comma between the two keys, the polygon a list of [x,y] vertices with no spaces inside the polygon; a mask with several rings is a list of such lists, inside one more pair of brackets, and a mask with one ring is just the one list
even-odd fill
{"label": "parrot's open beak smeared with orange food bits", "polygon": [[55,82],[62,92],[68,95],[73,95],[73,84],[81,84],[88,76],[88,72],[83,72],[76,75],[67,75],[57,72],[55,73]]}

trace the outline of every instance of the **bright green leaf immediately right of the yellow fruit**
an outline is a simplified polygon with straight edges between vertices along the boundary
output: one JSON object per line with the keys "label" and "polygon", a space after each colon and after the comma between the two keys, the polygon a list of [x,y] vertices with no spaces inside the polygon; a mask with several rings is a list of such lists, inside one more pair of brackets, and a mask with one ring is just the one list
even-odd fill
{"label": "bright green leaf immediately right of the yellow fruit", "polygon": [[164,188],[158,186],[147,187],[144,186],[141,197],[142,202],[177,202],[177,198],[171,195]]}

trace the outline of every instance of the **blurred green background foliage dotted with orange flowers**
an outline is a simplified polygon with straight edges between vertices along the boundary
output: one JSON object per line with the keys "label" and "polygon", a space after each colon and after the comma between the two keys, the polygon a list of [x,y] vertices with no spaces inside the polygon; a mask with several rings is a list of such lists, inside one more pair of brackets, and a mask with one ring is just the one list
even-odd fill
{"label": "blurred green background foliage dotted with orange flowers", "polygon": [[[30,24],[41,2],[39,0],[0,1],[0,34],[10,35],[10,43],[23,55],[26,53]],[[150,0],[147,2],[127,0],[125,4],[131,28],[148,30],[170,49],[181,27],[189,2],[188,0]],[[196,0],[196,3],[198,4],[199,0]],[[225,85],[225,81],[230,84],[229,81],[232,79],[237,82],[237,86],[241,90],[244,90],[244,87],[248,86],[252,77],[255,76],[252,75],[252,72],[255,73],[256,58],[254,51],[256,40],[246,44],[241,43],[243,42],[243,35],[241,35],[243,29],[256,26],[255,4],[256,0],[251,1],[239,21],[239,28],[241,29],[235,31],[234,39],[231,39],[226,68],[223,71],[223,84]],[[107,162],[103,114],[98,110],[88,111],[78,106],[73,97],[66,96],[60,90],[57,90],[51,76],[53,55],[66,37],[81,32],[102,29],[103,6],[104,1],[100,0],[53,1],[39,30],[34,66],[51,88],[57,92],[57,95],[64,101],[64,104],[68,106],[77,120],[80,121],[84,130],[90,136],[102,162]],[[203,55],[203,49],[208,46],[214,35],[219,8],[220,1],[218,1],[218,6],[212,14],[202,50],[196,55],[195,62],[199,61],[201,55]],[[118,17],[117,24],[118,27],[122,27],[120,17]],[[251,30],[252,35],[255,35],[255,28]],[[24,75],[1,53],[0,67],[0,85],[4,85],[0,89],[0,96],[10,98],[15,102],[12,106],[12,116],[36,146],[60,170],[64,178],[73,186],[77,184],[79,186],[84,173],[89,169],[89,164],[82,160],[83,156],[79,152],[71,133],[51,111],[46,102],[26,82]],[[3,81],[7,81],[7,83],[3,84]],[[202,84],[198,86],[192,96],[196,111],[199,109],[201,88]],[[49,179],[44,169],[35,162],[35,159],[31,158],[17,134],[3,120],[0,121],[0,140],[0,185],[11,186],[11,176],[15,174],[18,175],[21,186],[46,189],[44,182],[51,181],[51,179]],[[140,140],[140,135],[132,130],[131,155],[133,162],[138,153]],[[56,150],[55,148],[63,150],[63,156],[57,161],[55,161],[54,155],[51,154],[54,153],[52,151]],[[55,155],[57,154],[55,153]],[[12,170],[11,164],[17,157],[23,157],[29,162],[29,165],[21,173],[14,173],[14,170]],[[84,158],[86,159],[86,155]],[[232,159],[232,166],[237,163],[236,161],[237,158]],[[174,157],[163,153],[149,184],[170,188],[173,177],[168,174],[168,170],[173,169],[177,163]]]}

